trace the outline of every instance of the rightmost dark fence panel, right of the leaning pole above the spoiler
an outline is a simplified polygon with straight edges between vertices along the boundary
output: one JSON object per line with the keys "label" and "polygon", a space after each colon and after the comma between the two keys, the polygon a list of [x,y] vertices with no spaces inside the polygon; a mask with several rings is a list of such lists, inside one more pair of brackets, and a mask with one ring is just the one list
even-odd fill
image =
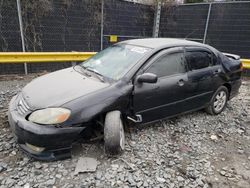
{"label": "rightmost dark fence panel, right of the leaning pole above the spoiler", "polygon": [[212,4],[206,43],[250,58],[250,1]]}

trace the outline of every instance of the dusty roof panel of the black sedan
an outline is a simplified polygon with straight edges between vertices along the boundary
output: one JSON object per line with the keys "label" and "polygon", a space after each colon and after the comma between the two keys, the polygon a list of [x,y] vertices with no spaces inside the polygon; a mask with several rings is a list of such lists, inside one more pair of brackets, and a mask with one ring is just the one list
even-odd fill
{"label": "dusty roof panel of the black sedan", "polygon": [[136,46],[143,46],[148,48],[168,48],[174,46],[200,46],[210,47],[199,42],[189,41],[185,39],[176,38],[145,38],[145,39],[133,39],[120,42],[120,44],[130,44]]}

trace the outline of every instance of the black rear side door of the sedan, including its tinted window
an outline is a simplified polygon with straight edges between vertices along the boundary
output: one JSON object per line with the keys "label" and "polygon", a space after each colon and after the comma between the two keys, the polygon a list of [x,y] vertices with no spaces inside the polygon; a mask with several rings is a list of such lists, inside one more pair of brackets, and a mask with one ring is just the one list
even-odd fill
{"label": "black rear side door of the sedan, including its tinted window", "polygon": [[185,48],[188,65],[188,106],[198,109],[209,103],[213,95],[212,53],[203,48]]}

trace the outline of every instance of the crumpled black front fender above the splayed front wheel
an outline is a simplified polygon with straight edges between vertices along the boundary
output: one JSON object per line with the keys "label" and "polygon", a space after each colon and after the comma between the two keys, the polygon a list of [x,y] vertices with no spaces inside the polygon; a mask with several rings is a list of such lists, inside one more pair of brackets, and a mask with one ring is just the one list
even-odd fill
{"label": "crumpled black front fender above the splayed front wheel", "polygon": [[132,84],[114,84],[99,92],[78,98],[63,107],[71,109],[72,116],[65,125],[86,123],[100,114],[120,110],[122,113],[128,110]]}

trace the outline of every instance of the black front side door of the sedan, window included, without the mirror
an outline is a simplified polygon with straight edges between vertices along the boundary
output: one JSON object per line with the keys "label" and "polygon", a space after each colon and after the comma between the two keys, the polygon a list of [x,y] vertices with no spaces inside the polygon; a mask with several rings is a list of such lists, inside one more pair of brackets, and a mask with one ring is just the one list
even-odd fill
{"label": "black front side door of the sedan, window included, without the mirror", "polygon": [[187,110],[187,68],[184,49],[163,50],[155,55],[137,76],[142,73],[157,75],[156,83],[134,81],[134,112],[142,116],[142,122],[170,117]]}

